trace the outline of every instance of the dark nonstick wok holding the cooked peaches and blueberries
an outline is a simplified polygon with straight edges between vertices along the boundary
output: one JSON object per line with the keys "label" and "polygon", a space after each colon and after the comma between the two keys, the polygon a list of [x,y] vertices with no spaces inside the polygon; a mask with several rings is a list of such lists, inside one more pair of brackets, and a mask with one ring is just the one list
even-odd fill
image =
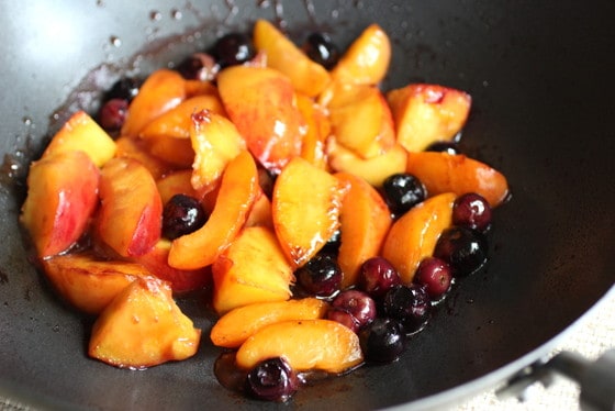
{"label": "dark nonstick wok holding the cooked peaches and blueberries", "polygon": [[[85,354],[91,319],[51,291],[16,216],[26,164],[67,113],[94,111],[122,73],[145,75],[222,33],[275,21],[297,42],[323,30],[346,47],[371,22],[393,40],[382,87],[467,90],[462,149],[502,170],[487,270],[465,279],[391,365],[301,390],[291,408],[439,407],[548,353],[615,280],[615,36],[610,0],[2,1],[0,395],[51,409],[275,409],[215,380],[217,349],[120,370]],[[208,335],[198,301],[180,301]]]}

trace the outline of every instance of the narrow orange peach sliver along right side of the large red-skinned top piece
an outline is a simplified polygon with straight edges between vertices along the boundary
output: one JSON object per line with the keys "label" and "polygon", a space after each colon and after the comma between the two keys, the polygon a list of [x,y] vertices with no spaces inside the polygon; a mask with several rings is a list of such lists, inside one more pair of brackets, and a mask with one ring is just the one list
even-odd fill
{"label": "narrow orange peach sliver along right side of the large red-skinned top piece", "polygon": [[328,114],[323,107],[302,93],[297,93],[297,107],[305,123],[301,157],[318,168],[326,169],[325,142],[331,134]]}

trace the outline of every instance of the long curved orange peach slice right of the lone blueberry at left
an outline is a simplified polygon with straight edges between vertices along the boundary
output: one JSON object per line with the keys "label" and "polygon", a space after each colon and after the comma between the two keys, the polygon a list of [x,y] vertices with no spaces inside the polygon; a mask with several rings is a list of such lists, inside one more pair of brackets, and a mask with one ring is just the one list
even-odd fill
{"label": "long curved orange peach slice right of the lone blueberry at left", "polygon": [[193,233],[174,240],[169,265],[181,269],[211,265],[244,226],[257,192],[256,164],[244,151],[226,166],[208,222]]}

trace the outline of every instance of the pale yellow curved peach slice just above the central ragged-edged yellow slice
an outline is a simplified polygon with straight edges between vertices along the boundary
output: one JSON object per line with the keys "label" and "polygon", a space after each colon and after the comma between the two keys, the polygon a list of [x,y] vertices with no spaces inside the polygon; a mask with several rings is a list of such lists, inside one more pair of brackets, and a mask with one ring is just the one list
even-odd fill
{"label": "pale yellow curved peach slice just above the central ragged-edged yellow slice", "polygon": [[407,152],[399,144],[377,157],[365,159],[335,142],[335,138],[329,138],[326,152],[333,170],[354,174],[374,187],[382,186],[387,177],[406,169]]}

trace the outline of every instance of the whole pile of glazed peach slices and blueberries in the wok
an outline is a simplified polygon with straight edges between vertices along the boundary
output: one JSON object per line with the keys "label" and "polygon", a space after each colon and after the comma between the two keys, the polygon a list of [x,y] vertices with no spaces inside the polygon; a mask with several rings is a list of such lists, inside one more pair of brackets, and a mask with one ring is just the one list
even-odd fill
{"label": "whole pile of glazed peach slices and blueberries in the wok", "polygon": [[211,287],[230,388],[286,400],[311,373],[395,360],[484,265],[508,188],[459,153],[470,97],[384,92],[390,58],[376,24],[339,53],[257,21],[121,79],[96,121],[75,113],[31,166],[21,222],[57,292],[98,315],[88,354],[193,356],[201,330],[174,298]]}

